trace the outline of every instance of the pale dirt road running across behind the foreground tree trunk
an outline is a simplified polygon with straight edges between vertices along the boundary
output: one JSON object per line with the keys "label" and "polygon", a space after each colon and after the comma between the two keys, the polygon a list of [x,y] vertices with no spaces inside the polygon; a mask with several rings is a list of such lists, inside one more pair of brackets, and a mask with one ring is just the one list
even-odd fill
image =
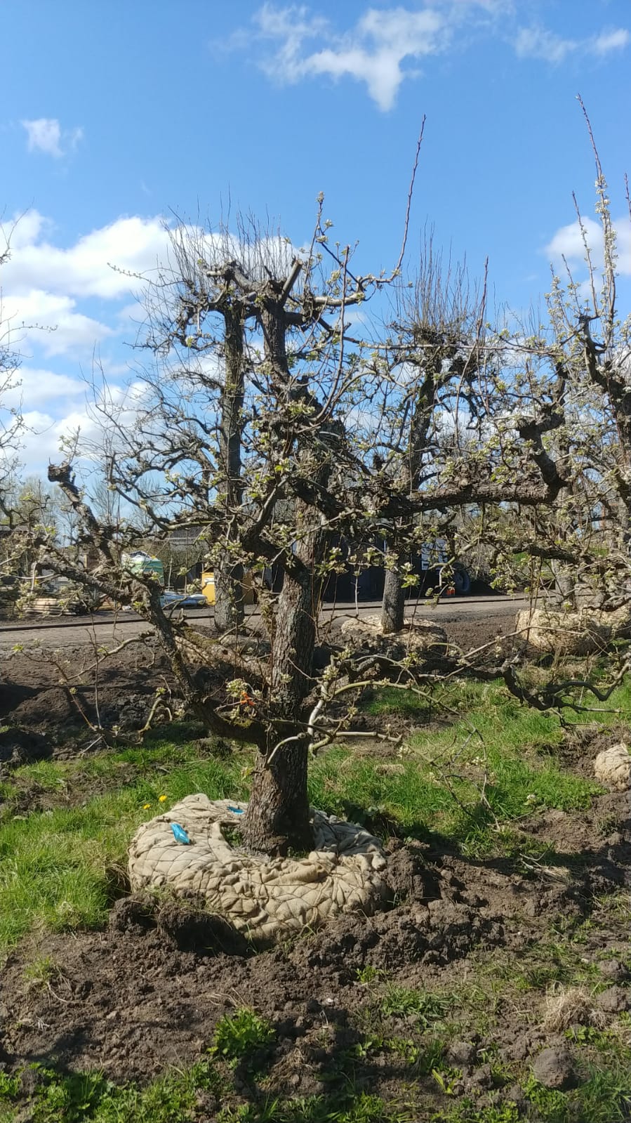
{"label": "pale dirt road running across behind the foreground tree trunk", "polygon": [[[487,632],[493,620],[497,620],[497,630],[504,632],[511,617],[528,603],[523,596],[463,596],[456,600],[441,601],[437,605],[421,605],[415,609],[417,615],[435,620],[448,628],[449,624],[464,624],[467,631],[474,631],[476,622],[484,622]],[[364,602],[359,605],[359,615],[371,615],[379,610],[379,602]],[[257,608],[246,610],[248,617],[259,618]],[[413,605],[410,605],[413,611]],[[199,612],[186,611],[191,622],[212,623],[212,610]],[[322,619],[355,615],[355,604],[324,605]],[[64,619],[47,619],[40,621],[22,621],[19,624],[0,626],[0,651],[10,651],[16,645],[42,648],[81,647],[85,643],[111,645],[141,632],[150,630],[145,621],[135,612],[121,612],[115,617],[111,612],[95,613],[93,617],[71,617]]]}

